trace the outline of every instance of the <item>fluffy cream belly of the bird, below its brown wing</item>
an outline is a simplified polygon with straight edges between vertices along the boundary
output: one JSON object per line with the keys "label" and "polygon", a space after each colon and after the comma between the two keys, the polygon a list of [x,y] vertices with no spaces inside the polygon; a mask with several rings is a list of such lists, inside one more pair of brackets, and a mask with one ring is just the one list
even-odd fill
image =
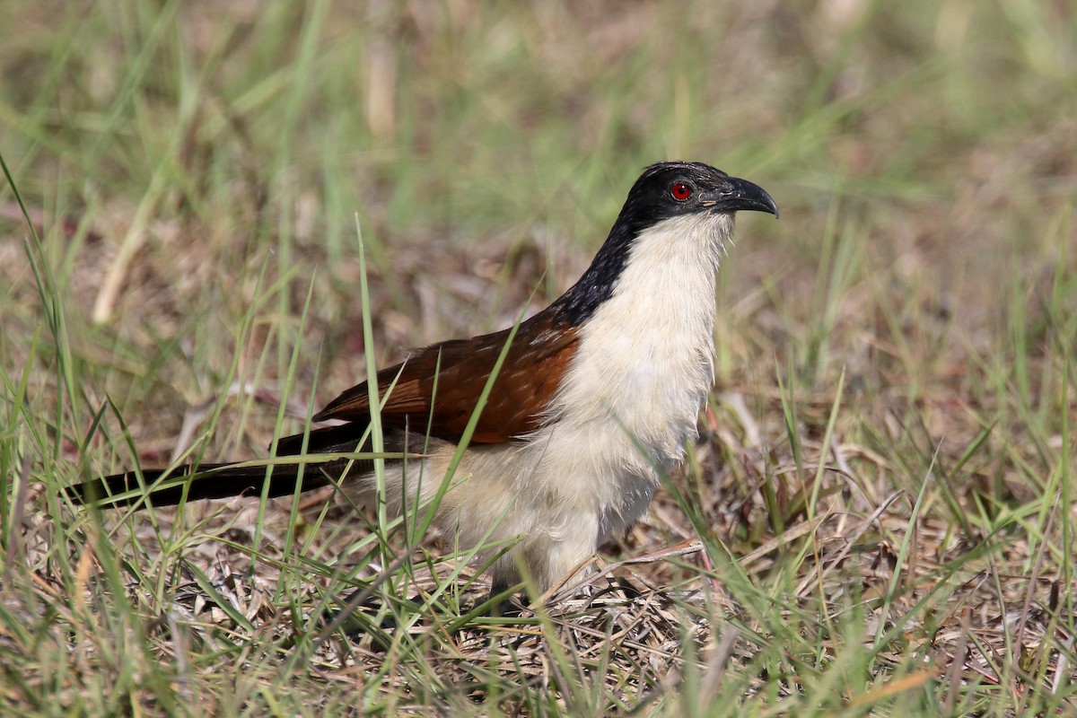
{"label": "fluffy cream belly of the bird, below its brown wing", "polygon": [[[617,427],[619,431],[619,427]],[[640,455],[619,474],[593,473],[602,457],[565,450],[557,428],[544,428],[527,442],[473,447],[448,479],[434,527],[461,549],[489,546],[478,563],[515,544],[491,568],[494,585],[514,583],[522,562],[545,590],[595,552],[609,535],[623,531],[646,511],[658,477]],[[624,449],[639,454],[624,435]],[[596,442],[593,436],[591,444]],[[570,452],[571,451],[571,452]],[[558,455],[560,454],[560,455]],[[551,456],[556,456],[551,459]],[[422,461],[387,466],[389,511],[398,516],[438,493],[452,457],[451,445]],[[370,505],[373,476],[345,483],[350,497]],[[406,498],[405,498],[406,497]]]}

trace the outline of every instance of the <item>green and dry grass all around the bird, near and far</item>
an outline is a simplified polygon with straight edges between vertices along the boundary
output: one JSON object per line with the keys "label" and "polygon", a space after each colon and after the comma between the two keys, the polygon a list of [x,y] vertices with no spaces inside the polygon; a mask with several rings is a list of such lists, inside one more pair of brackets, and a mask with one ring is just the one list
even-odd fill
{"label": "green and dry grass all around the bird, near and far", "polygon": [[[0,27],[0,712],[1074,710],[1071,4],[15,0]],[[324,496],[57,497],[264,456],[367,357],[510,325],[672,157],[782,220],[740,219],[703,437],[602,553],[639,599],[492,618],[470,568]],[[365,632],[322,635],[370,576]]]}

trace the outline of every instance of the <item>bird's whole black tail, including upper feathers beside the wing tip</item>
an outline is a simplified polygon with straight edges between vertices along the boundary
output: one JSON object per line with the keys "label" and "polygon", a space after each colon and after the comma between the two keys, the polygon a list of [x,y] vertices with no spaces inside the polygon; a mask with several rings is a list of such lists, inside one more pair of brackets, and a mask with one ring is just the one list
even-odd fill
{"label": "bird's whole black tail, including upper feathers beside the wing tip", "polygon": [[[359,424],[328,426],[310,432],[307,453],[345,453],[358,451],[359,438],[365,427]],[[302,434],[282,438],[277,445],[278,456],[297,455],[303,451]],[[403,448],[403,447],[402,447]],[[387,447],[387,449],[389,449]],[[392,449],[389,449],[392,450]],[[178,466],[171,470],[151,468],[142,470],[142,483],[137,471],[113,474],[100,479],[68,487],[68,495],[80,504],[101,506],[130,506],[143,502],[149,495],[155,506],[174,506],[184,496],[186,501],[201,498],[227,498],[229,496],[261,496],[268,481],[269,496],[286,496],[295,491],[299,480],[299,467],[304,464],[199,464]],[[311,461],[305,464],[303,490],[324,487],[345,471],[350,476],[372,470],[369,460]],[[269,474],[268,479],[266,474]],[[162,477],[160,485],[153,487]],[[149,490],[149,493],[146,492]],[[143,502],[144,503],[144,502]]]}

